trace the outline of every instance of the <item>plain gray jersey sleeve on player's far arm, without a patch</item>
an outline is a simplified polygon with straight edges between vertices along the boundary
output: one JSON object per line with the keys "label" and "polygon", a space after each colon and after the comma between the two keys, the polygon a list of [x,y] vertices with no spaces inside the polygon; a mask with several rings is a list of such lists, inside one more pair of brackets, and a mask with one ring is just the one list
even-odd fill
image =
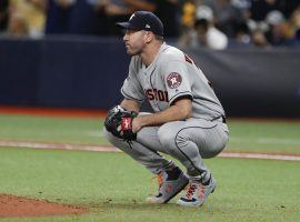
{"label": "plain gray jersey sleeve on player's far arm, without a patch", "polygon": [[138,80],[137,69],[134,67],[134,59],[132,58],[129,64],[129,74],[123,82],[121,93],[126,99],[134,100],[141,103],[144,100],[144,93]]}

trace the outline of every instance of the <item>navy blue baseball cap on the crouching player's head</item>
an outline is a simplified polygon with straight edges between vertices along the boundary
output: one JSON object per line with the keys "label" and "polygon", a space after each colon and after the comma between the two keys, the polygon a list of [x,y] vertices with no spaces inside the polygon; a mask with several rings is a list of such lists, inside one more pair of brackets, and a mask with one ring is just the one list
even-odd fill
{"label": "navy blue baseball cap on the crouching player's head", "polygon": [[127,22],[118,22],[117,26],[129,30],[152,31],[163,37],[163,24],[161,20],[150,11],[136,11]]}

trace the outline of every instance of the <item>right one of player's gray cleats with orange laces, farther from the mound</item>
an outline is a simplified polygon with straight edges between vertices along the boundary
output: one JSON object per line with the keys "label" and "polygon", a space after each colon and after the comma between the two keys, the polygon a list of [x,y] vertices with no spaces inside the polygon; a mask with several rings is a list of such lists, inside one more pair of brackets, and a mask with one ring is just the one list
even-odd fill
{"label": "right one of player's gray cleats with orange laces, farther from the mound", "polygon": [[201,184],[199,181],[190,181],[186,195],[177,201],[177,204],[183,206],[200,206],[208,195],[213,193],[217,184],[213,178],[210,179],[208,185]]}

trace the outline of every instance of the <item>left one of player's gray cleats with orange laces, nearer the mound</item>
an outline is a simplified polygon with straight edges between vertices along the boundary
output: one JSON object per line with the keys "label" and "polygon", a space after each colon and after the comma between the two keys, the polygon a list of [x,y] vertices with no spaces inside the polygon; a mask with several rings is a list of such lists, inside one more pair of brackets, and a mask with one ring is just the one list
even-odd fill
{"label": "left one of player's gray cleats with orange laces, nearer the mound", "polygon": [[179,169],[162,171],[158,174],[159,190],[157,195],[146,199],[148,203],[167,203],[189,183],[188,176]]}

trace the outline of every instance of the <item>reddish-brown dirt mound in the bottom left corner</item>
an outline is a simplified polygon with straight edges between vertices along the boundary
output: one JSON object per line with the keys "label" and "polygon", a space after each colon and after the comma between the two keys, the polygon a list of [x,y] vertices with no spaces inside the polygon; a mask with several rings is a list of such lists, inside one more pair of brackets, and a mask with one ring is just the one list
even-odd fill
{"label": "reddish-brown dirt mound in the bottom left corner", "polygon": [[0,193],[0,218],[81,214],[81,208]]}

